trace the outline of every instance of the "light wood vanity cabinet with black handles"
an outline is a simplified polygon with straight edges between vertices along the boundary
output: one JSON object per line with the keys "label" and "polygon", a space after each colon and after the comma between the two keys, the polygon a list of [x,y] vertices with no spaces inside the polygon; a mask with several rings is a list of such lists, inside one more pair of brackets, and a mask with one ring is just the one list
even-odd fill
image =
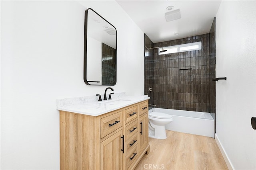
{"label": "light wood vanity cabinet with black handles", "polygon": [[60,111],[61,170],[132,170],[145,153],[148,100],[99,116]]}

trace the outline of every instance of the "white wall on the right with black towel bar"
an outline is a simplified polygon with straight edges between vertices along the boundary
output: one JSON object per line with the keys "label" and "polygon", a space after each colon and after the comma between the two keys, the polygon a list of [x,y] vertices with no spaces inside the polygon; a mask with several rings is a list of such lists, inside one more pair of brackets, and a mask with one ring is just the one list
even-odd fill
{"label": "white wall on the right with black towel bar", "polygon": [[236,170],[256,169],[256,1],[222,1],[216,15],[216,139]]}

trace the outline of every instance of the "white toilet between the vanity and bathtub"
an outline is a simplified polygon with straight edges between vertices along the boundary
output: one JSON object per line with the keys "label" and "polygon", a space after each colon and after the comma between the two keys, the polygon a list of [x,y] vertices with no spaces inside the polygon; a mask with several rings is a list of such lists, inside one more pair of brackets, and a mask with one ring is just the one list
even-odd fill
{"label": "white toilet between the vanity and bathtub", "polygon": [[172,116],[166,113],[148,113],[148,137],[156,139],[166,139],[165,126],[172,122]]}

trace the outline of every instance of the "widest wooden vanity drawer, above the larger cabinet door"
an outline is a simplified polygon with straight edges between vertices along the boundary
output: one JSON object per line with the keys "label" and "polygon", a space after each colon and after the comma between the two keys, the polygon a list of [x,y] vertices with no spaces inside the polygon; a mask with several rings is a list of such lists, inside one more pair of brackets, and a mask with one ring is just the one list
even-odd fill
{"label": "widest wooden vanity drawer, above the larger cabinet door", "polygon": [[122,127],[122,111],[100,119],[100,138],[105,137],[116,129]]}

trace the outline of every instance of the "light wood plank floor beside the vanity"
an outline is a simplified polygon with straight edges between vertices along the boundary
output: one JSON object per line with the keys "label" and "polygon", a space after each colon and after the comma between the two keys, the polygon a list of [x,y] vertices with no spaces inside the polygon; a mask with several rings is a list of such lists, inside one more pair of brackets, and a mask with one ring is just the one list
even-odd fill
{"label": "light wood plank floor beside the vanity", "polygon": [[166,134],[164,140],[149,138],[150,153],[135,170],[228,170],[214,138],[168,130]]}

